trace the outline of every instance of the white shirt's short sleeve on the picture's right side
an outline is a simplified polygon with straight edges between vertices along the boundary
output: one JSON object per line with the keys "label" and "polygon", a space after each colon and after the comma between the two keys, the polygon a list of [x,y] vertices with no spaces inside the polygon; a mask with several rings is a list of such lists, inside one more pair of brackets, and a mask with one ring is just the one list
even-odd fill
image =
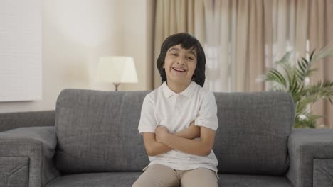
{"label": "white shirt's short sleeve on the picture's right side", "polygon": [[213,92],[208,92],[206,96],[204,96],[195,124],[215,131],[217,130],[217,106]]}

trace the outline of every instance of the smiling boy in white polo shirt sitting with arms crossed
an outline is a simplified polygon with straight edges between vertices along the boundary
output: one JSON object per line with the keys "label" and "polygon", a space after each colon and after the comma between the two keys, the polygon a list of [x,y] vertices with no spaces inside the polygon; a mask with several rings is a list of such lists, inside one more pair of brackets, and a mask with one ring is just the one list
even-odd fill
{"label": "smiling boy in white polo shirt sitting with arms crossed", "polygon": [[217,108],[202,88],[205,64],[199,40],[188,33],[164,40],[157,59],[162,85],[144,98],[138,127],[150,163],[134,187],[218,186]]}

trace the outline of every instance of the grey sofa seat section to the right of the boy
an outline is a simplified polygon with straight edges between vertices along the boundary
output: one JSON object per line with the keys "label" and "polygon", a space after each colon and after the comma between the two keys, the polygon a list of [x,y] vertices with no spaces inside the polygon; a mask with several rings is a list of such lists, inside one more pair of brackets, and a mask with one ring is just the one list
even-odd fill
{"label": "grey sofa seat section to the right of the boy", "polygon": [[292,187],[285,176],[218,174],[223,187]]}

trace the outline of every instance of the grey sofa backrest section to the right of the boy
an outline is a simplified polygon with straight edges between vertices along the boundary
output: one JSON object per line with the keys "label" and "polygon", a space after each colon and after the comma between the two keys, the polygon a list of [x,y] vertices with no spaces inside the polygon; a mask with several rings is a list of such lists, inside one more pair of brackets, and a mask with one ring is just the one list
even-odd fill
{"label": "grey sofa backrest section to the right of the boy", "polygon": [[283,175],[289,167],[287,140],[295,120],[284,92],[215,93],[218,130],[213,150],[218,171]]}

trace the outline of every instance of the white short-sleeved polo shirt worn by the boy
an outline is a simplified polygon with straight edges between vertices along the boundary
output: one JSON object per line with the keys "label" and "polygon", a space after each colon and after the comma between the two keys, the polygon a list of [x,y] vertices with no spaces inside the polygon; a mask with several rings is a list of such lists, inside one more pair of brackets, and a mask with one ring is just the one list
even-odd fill
{"label": "white short-sleeved polo shirt worn by the boy", "polygon": [[[195,125],[216,131],[218,128],[216,113],[217,107],[213,93],[206,91],[196,82],[192,81],[179,94],[171,91],[164,82],[144,98],[138,129],[140,133],[155,132],[157,125],[163,125],[169,132],[174,133],[185,130],[195,120]],[[149,161],[148,166],[162,164],[177,170],[203,167],[211,169],[217,174],[218,161],[213,150],[211,154],[203,157],[174,149],[164,154],[149,157]]]}

